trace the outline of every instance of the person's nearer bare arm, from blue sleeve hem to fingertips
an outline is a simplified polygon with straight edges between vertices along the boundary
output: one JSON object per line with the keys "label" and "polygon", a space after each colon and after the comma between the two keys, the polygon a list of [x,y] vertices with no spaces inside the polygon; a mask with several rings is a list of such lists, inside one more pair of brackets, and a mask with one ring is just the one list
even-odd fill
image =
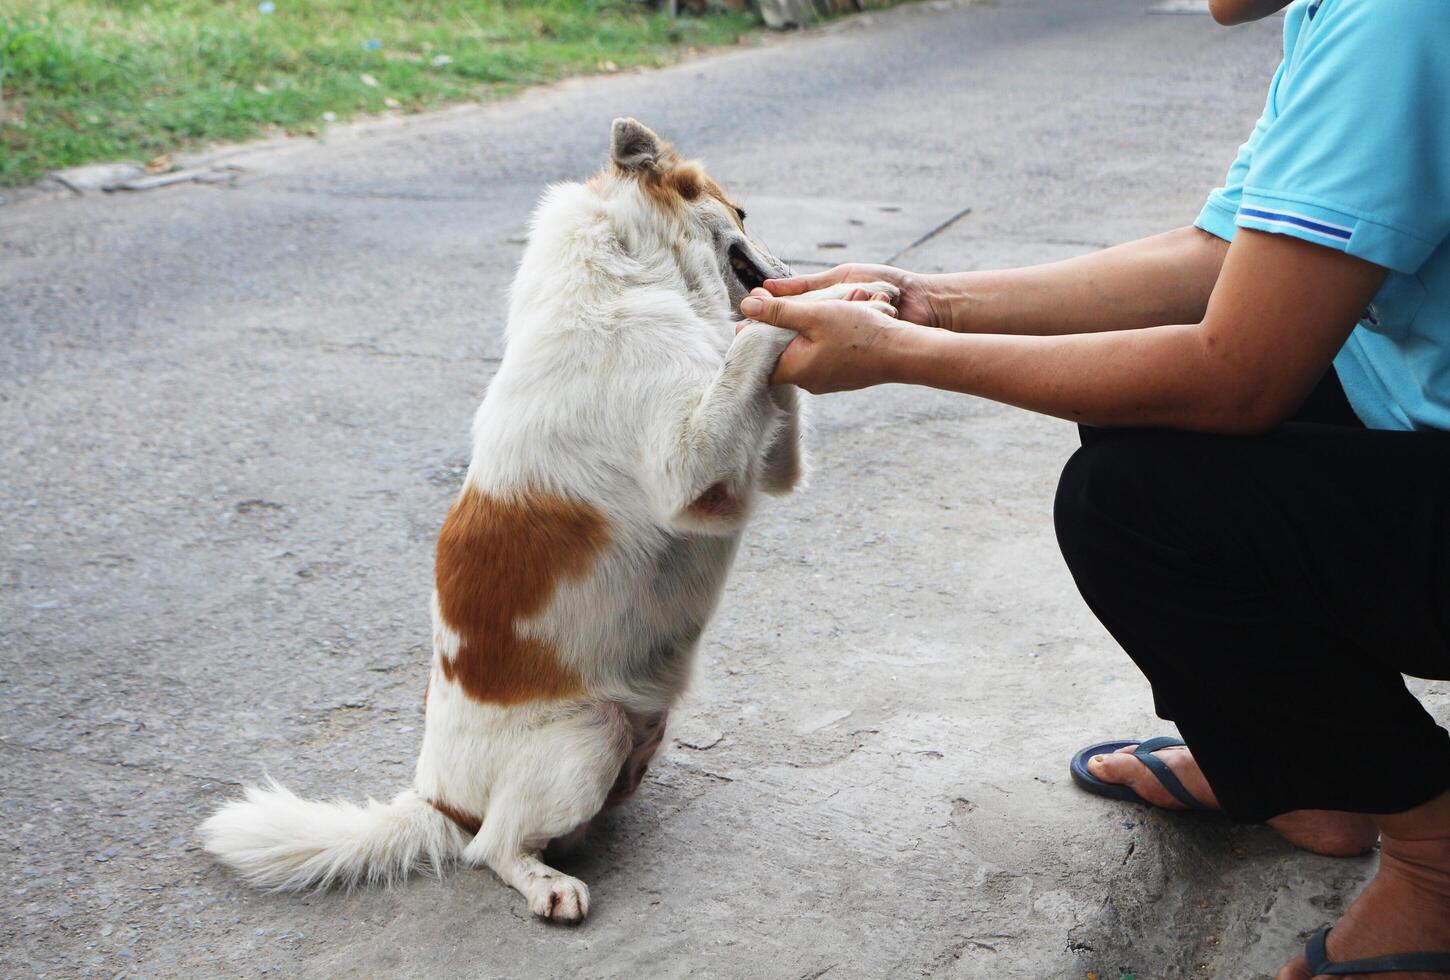
{"label": "person's nearer bare arm, from blue sleeve hem to fingertips", "polygon": [[1324,374],[1385,274],[1344,252],[1244,229],[1202,319],[1173,326],[951,333],[864,303],[800,304],[760,293],[741,312],[800,333],[773,380],[808,391],[896,381],[1089,425],[1263,432]]}

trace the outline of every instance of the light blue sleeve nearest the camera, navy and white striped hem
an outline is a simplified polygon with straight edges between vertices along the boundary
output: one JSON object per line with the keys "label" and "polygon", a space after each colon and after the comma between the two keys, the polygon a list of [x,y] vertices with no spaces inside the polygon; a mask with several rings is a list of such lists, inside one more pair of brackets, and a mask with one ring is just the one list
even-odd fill
{"label": "light blue sleeve nearest the camera, navy and white striped hem", "polygon": [[1324,0],[1318,19],[1270,93],[1235,225],[1414,273],[1450,235],[1450,3]]}

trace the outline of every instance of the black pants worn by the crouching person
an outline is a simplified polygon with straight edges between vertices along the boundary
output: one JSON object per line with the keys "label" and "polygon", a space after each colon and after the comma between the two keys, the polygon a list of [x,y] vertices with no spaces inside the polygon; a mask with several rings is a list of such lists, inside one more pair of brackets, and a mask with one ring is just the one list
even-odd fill
{"label": "black pants worn by the crouching person", "polygon": [[1082,436],[1063,555],[1230,816],[1450,789],[1401,677],[1450,678],[1450,432],[1366,429],[1331,371],[1269,435]]}

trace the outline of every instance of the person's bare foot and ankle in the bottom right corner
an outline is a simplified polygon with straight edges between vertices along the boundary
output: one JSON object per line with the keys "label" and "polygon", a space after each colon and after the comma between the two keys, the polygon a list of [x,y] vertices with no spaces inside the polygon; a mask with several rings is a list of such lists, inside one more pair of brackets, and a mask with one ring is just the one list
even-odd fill
{"label": "person's bare foot and ankle in the bottom right corner", "polygon": [[[1379,873],[1330,932],[1330,960],[1392,952],[1450,952],[1450,841],[1385,836]],[[1359,974],[1356,974],[1359,976]],[[1402,980],[1444,980],[1444,973],[1396,973]],[[1311,980],[1304,957],[1275,980]]]}

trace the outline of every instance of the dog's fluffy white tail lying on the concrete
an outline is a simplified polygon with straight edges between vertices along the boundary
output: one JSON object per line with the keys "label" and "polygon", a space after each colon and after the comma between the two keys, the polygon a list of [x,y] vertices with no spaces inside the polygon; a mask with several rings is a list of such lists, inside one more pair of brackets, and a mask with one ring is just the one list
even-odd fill
{"label": "dog's fluffy white tail lying on the concrete", "polygon": [[273,780],[218,810],[202,838],[251,884],[278,892],[390,884],[415,868],[441,873],[468,842],[413,790],[358,806],[304,800]]}

